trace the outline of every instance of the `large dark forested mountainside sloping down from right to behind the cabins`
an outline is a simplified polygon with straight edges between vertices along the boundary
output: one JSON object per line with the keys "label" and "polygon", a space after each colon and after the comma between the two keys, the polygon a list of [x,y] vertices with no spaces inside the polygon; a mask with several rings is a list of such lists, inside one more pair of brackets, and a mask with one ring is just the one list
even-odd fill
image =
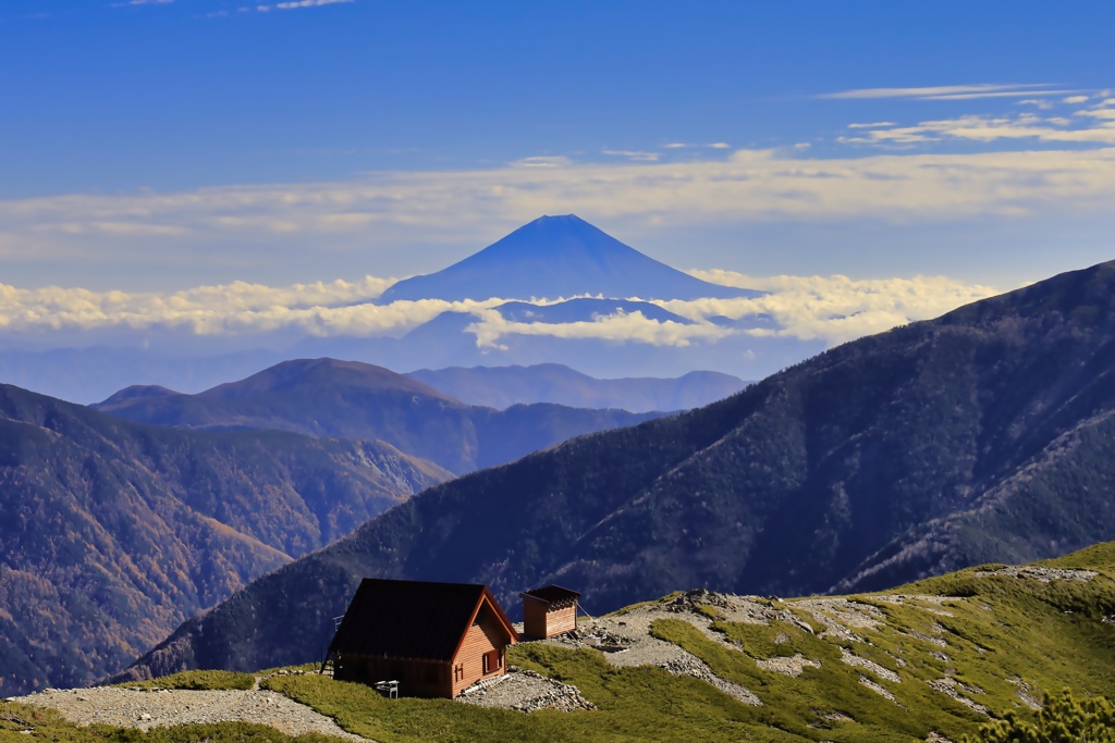
{"label": "large dark forested mountainside sloping down from right to behind the cabins", "polygon": [[677,586],[802,595],[1111,539],[1113,372],[1106,263],[433,488],[191,619],[138,672],[311,659],[363,576],[486,583],[508,604],[555,581],[599,614]]}

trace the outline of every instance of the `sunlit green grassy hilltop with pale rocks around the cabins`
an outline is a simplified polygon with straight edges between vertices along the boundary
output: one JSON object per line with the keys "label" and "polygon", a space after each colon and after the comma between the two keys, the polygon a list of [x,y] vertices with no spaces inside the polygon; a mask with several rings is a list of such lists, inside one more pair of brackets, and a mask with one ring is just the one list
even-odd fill
{"label": "sunlit green grassy hilltop with pale rocks around the cabins", "polygon": [[[272,676],[263,685],[385,743],[960,741],[1007,714],[1035,717],[1047,693],[1072,688],[1078,697],[1109,697],[1115,690],[1115,542],[1026,568],[981,566],[882,593],[753,598],[774,617],[765,624],[729,620],[717,595],[696,596],[683,612],[670,609],[688,598],[679,594],[629,607],[612,620],[648,612],[659,617],[650,625],[656,637],[749,690],[760,705],[661,667],[615,667],[598,651],[543,643],[514,647],[511,663],[575,685],[595,710],[524,714],[445,700],[388,701],[368,687],[314,675]],[[787,675],[794,667],[799,674]],[[198,673],[174,683],[204,685],[193,677]],[[243,687],[242,677],[230,678],[230,686]],[[32,732],[13,732],[27,729]],[[148,734],[77,729],[30,707],[0,706],[0,740],[197,736],[291,740],[236,723]]]}

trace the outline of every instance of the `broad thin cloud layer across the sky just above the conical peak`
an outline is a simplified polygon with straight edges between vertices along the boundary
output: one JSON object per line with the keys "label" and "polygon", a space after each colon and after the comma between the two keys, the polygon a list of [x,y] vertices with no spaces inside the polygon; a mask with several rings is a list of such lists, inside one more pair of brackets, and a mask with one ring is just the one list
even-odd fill
{"label": "broad thin cloud layer across the sky just above the conical peak", "polygon": [[[177,266],[188,254],[194,265],[220,270],[217,275],[260,276],[261,264],[277,264],[295,254],[291,251],[306,255],[311,246],[316,261],[358,251],[367,256],[386,246],[477,248],[504,229],[558,211],[643,228],[1109,215],[1115,147],[1103,145],[1115,144],[1115,126],[1099,116],[1074,119],[1085,124],[967,117],[861,129],[855,139],[873,146],[932,139],[1074,145],[1066,149],[828,158],[740,149],[720,159],[594,164],[535,157],[489,169],[0,201],[0,260],[54,265],[54,276],[65,275],[59,265],[75,262],[105,275],[116,267],[134,275],[137,262]],[[1090,148],[1079,147],[1089,143]],[[277,254],[275,245],[288,254]]]}

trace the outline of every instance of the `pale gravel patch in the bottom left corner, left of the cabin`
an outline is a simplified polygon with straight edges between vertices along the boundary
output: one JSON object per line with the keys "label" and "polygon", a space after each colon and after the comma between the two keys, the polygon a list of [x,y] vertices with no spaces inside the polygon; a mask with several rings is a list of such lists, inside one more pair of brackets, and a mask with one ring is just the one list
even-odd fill
{"label": "pale gravel patch in the bottom left corner, left of the cabin", "polygon": [[151,730],[190,723],[254,722],[290,735],[321,733],[367,741],[341,730],[330,717],[269,691],[136,691],[115,686],[47,690],[13,702],[57,710],[78,725],[104,723]]}

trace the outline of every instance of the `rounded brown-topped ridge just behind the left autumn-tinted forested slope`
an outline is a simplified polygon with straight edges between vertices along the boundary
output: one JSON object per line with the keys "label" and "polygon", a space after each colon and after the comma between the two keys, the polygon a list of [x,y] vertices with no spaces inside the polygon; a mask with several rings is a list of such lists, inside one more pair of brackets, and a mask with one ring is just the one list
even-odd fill
{"label": "rounded brown-topped ridge just behind the left autumn-tinted forested slope", "polygon": [[554,404],[510,410],[466,405],[382,366],[333,359],[287,361],[197,394],[122,390],[94,408],[178,428],[278,429],[379,439],[457,473],[662,414]]}

